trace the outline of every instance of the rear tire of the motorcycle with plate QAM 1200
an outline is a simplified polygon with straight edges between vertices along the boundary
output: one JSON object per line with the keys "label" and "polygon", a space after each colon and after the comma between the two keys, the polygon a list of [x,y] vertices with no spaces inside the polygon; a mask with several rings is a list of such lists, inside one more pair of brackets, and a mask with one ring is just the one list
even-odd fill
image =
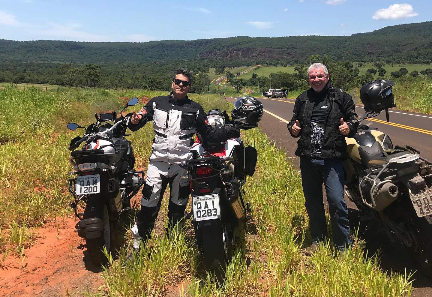
{"label": "rear tire of the motorcycle with plate QAM 1200", "polygon": [[104,204],[102,218],[104,222],[101,236],[94,239],[86,239],[87,253],[90,261],[95,265],[106,265],[108,259],[103,253],[103,247],[106,246],[107,251],[110,251],[112,243],[112,224],[110,221],[110,214],[108,211],[108,205]]}

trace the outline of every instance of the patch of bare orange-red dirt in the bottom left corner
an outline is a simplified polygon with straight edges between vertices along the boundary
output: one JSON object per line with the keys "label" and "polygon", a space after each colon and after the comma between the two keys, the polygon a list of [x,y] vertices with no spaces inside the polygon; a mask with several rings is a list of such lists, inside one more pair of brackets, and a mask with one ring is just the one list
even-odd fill
{"label": "patch of bare orange-red dirt in the bottom left corner", "polygon": [[83,260],[85,240],[75,231],[75,219],[50,222],[38,229],[37,242],[25,250],[21,260],[9,255],[0,270],[0,296],[65,296],[102,284],[100,268]]}

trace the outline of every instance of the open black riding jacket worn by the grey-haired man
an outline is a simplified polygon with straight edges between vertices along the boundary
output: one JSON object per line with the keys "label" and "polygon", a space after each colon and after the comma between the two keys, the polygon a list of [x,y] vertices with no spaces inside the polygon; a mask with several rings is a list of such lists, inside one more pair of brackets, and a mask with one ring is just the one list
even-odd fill
{"label": "open black riding jacket worn by the grey-haired man", "polygon": [[[295,99],[292,119],[287,124],[291,136],[300,137],[299,141],[297,141],[295,155],[308,158],[311,156],[312,148],[310,133],[312,110],[314,108],[314,104],[309,100],[312,95],[311,92],[313,91],[310,88]],[[340,88],[332,88],[330,83],[327,83],[326,89],[321,92],[328,92],[326,97],[327,118],[321,147],[321,158],[348,158],[345,137],[353,137],[356,135],[359,126],[353,98]],[[344,122],[349,126],[349,134],[346,136],[343,136],[339,131],[340,118],[343,118]],[[295,120],[299,120],[302,128],[298,136],[292,135],[291,132]]]}

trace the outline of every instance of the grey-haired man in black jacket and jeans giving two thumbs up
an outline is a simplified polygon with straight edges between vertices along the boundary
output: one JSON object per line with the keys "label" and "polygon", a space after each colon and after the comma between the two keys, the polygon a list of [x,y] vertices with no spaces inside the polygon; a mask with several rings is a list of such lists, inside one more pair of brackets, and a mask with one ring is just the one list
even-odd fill
{"label": "grey-haired man in black jacket and jeans giving two thumbs up", "polygon": [[311,88],[295,99],[292,119],[287,126],[292,137],[300,137],[295,155],[300,157],[312,237],[306,255],[311,256],[327,234],[323,182],[334,244],[342,251],[351,245],[348,209],[343,199],[342,161],[348,157],[345,137],[357,133],[359,121],[353,98],[340,88],[332,88],[325,65],[314,63],[306,73]]}

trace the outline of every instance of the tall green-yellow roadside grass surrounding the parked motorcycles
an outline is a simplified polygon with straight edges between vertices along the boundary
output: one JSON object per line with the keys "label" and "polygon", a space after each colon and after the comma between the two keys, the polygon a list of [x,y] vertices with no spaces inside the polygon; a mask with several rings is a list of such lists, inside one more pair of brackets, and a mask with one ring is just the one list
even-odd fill
{"label": "tall green-yellow roadside grass surrounding the parked motorcycles", "polygon": [[[0,252],[23,257],[37,236],[36,227],[55,216],[71,215],[68,201],[72,197],[66,188],[70,171],[67,146],[77,133],[68,131],[66,123],[89,124],[92,105],[120,107],[125,100],[121,97],[162,94],[167,93],[80,89],[57,93],[15,85],[2,88]],[[219,95],[198,98],[191,94],[191,98],[205,110],[226,109]],[[139,109],[136,106],[135,110]],[[303,256],[302,248],[311,239],[300,176],[286,161],[285,152],[271,144],[259,129],[242,133],[245,143],[259,152],[255,175],[244,187],[254,218],[248,222],[245,240],[236,247],[225,279],[218,282],[203,271],[193,228],[187,223],[178,237],[167,238],[163,228],[156,228],[160,232],[155,231],[147,249],[141,249],[149,253],[142,253],[140,261],[123,267],[131,243],[129,234],[128,245],[119,258],[111,259],[111,266],[102,272],[104,285],[100,291],[87,292],[88,296],[164,296],[168,288],[177,288],[176,284],[181,284],[182,289],[175,296],[193,297],[411,295],[411,276],[381,271],[376,256],[364,255],[361,240],[355,239],[345,259],[325,243],[313,257]],[[146,166],[152,138],[151,125],[129,136],[137,167]],[[165,199],[163,212],[166,204]],[[331,231],[328,237],[331,239]]]}

